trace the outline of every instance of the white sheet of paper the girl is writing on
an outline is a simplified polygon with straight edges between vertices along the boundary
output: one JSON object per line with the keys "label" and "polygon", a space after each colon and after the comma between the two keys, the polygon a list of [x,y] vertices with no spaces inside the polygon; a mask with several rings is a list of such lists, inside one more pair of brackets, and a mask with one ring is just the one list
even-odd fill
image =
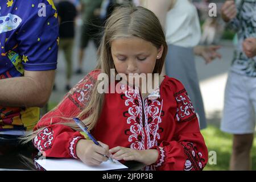
{"label": "white sheet of paper the girl is writing on", "polygon": [[79,159],[39,159],[35,160],[46,171],[107,171],[114,169],[127,169],[125,165],[114,160],[102,162],[100,166],[89,166]]}

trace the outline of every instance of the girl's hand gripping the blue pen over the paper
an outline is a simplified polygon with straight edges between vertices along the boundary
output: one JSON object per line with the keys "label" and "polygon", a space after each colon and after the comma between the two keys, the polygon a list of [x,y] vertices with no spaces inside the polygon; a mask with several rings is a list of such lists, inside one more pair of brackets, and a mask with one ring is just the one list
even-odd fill
{"label": "girl's hand gripping the blue pen over the paper", "polygon": [[88,165],[100,165],[108,160],[109,146],[99,142],[102,147],[97,146],[92,140],[81,139],[76,144],[76,155],[83,163]]}

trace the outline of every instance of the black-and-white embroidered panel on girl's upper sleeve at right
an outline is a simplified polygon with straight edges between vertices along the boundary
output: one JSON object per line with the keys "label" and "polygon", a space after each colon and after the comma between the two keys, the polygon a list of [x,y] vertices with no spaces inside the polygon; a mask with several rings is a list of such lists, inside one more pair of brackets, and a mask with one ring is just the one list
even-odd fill
{"label": "black-and-white embroidered panel on girl's upper sleeve at right", "polygon": [[178,122],[190,121],[196,117],[196,111],[185,89],[174,94],[177,102],[176,119]]}

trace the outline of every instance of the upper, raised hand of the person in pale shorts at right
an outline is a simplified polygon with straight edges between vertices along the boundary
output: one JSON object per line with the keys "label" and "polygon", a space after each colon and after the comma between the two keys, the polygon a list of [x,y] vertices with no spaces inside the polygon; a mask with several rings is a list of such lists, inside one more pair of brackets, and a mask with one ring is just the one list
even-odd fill
{"label": "upper, raised hand of the person in pale shorts at right", "polygon": [[237,16],[236,3],[233,0],[226,1],[221,7],[221,16],[225,22]]}

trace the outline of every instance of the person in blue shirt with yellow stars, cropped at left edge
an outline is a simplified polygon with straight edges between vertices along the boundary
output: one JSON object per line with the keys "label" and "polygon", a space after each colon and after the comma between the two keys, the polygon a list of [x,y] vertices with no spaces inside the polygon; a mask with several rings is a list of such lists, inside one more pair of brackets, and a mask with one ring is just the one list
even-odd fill
{"label": "person in blue shirt with yellow stars, cropped at left edge", "polygon": [[52,0],[0,2],[0,135],[23,135],[51,94],[59,27]]}

